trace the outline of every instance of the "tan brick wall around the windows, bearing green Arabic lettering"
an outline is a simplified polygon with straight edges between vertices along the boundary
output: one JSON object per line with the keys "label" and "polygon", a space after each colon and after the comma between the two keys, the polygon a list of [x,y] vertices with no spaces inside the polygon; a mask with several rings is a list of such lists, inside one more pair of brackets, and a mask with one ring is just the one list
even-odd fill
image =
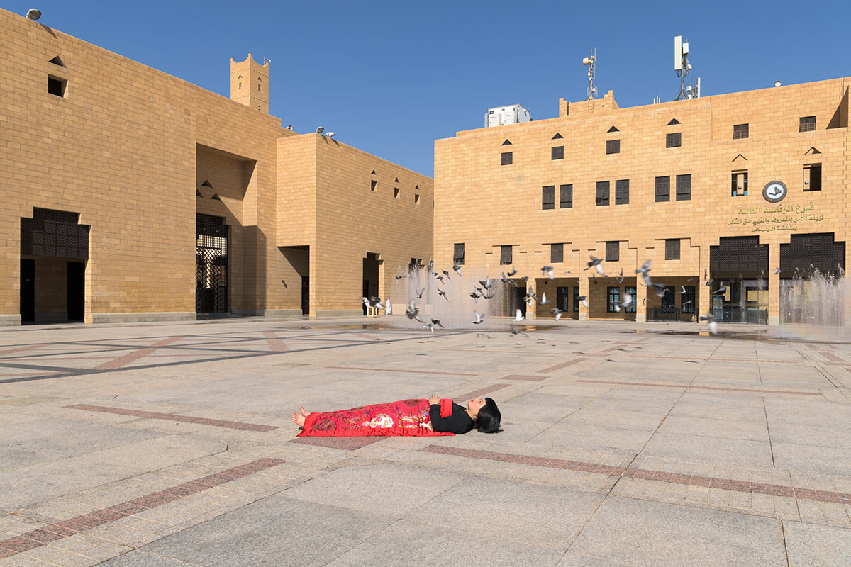
{"label": "tan brick wall around the windows, bearing green Arabic lettering", "polygon": [[[592,285],[582,272],[588,256],[605,255],[605,241],[620,241],[620,262],[606,271],[634,276],[644,260],[652,260],[654,280],[665,285],[700,276],[709,267],[709,247],[719,236],[759,234],[769,245],[771,273],[769,315],[776,317],[780,243],[790,234],[833,232],[848,241],[848,78],[724,94],[660,105],[618,108],[614,96],[567,105],[560,101],[557,118],[501,128],[479,128],[435,142],[435,257],[452,262],[453,245],[465,243],[465,264],[499,275],[499,246],[516,245],[518,275],[540,276],[549,264],[549,244],[567,242],[561,272],[580,273],[584,294]],[[817,116],[814,132],[799,133],[801,116]],[[680,124],[668,126],[676,118]],[[844,124],[842,128],[827,128]],[[735,124],[749,123],[749,139],[733,139]],[[618,132],[608,133],[615,127]],[[682,133],[682,146],[665,147],[666,133]],[[552,139],[560,133],[563,139]],[[508,139],[511,145],[503,145]],[[620,139],[620,153],[607,155],[606,140]],[[551,160],[551,147],[564,146],[564,159]],[[820,154],[808,154],[811,147]],[[500,154],[513,152],[513,164],[501,166]],[[745,159],[737,156],[741,154]],[[822,164],[820,192],[803,191],[803,166]],[[733,197],[731,172],[748,171],[747,196]],[[676,201],[677,174],[692,176],[692,198]],[[656,176],[671,176],[671,201],[655,202]],[[614,204],[614,181],[630,180],[629,204]],[[820,221],[789,224],[794,230],[753,232],[753,225],[731,224],[741,218],[769,218],[774,207],[762,199],[762,187],[783,181],[789,195],[783,207],[814,206]],[[595,204],[597,181],[610,182],[610,205]],[[573,207],[559,208],[558,185],[573,184]],[[541,188],[556,186],[556,208],[541,210]],[[759,214],[740,214],[758,208]],[[681,259],[665,261],[665,238],[681,241]],[[851,246],[847,247],[851,254]],[[502,267],[504,269],[505,267]],[[646,298],[638,286],[638,300]],[[708,288],[700,286],[700,308],[709,303]],[[652,296],[652,294],[651,294]],[[652,305],[655,296],[646,298]],[[601,311],[602,309],[602,311]],[[643,317],[639,309],[639,319]],[[583,317],[588,314],[583,309]],[[592,305],[591,317],[608,317],[605,305]]]}

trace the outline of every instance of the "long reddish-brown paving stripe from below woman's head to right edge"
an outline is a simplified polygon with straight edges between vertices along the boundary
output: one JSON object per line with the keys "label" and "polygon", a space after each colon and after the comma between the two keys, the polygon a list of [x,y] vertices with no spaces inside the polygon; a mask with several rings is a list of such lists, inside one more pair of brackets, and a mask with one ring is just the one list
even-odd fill
{"label": "long reddish-brown paving stripe from below woman's head to right edge", "polygon": [[614,475],[628,479],[658,480],[660,482],[669,482],[675,485],[705,486],[707,488],[721,488],[724,490],[735,490],[737,492],[755,492],[757,494],[770,494],[773,496],[789,496],[791,498],[813,500],[815,502],[851,504],[851,494],[845,494],[843,492],[813,490],[786,485],[771,485],[762,482],[751,482],[749,480],[719,479],[716,477],[699,476],[696,474],[668,473],[648,468],[614,467],[612,465],[603,465],[595,462],[566,461],[563,459],[551,459],[543,456],[516,455],[513,453],[500,453],[497,451],[478,451],[476,449],[462,449],[460,447],[448,447],[443,445],[426,445],[426,447],[423,447],[420,451],[437,453],[440,455],[464,456],[472,459],[485,459],[488,461],[514,462],[522,465],[531,465],[533,467],[566,468],[568,470]]}

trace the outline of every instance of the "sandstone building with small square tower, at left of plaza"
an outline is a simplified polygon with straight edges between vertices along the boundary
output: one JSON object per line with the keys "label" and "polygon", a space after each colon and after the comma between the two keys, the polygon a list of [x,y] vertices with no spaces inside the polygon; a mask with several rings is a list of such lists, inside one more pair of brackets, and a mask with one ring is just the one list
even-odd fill
{"label": "sandstone building with small square tower, at left of plaza", "polygon": [[426,176],[0,10],[0,323],[356,315],[430,258]]}

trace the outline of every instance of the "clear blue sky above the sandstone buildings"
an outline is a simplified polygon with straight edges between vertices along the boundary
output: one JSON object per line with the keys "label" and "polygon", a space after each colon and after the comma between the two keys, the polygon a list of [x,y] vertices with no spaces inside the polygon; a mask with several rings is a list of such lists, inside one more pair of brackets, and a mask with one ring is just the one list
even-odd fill
{"label": "clear blue sky above the sandstone buildings", "polygon": [[483,127],[488,107],[557,116],[585,99],[581,59],[620,106],[673,99],[673,37],[703,95],[851,75],[851,3],[104,2],[2,0],[41,22],[229,96],[229,61],[271,62],[270,112],[432,175],[434,139]]}

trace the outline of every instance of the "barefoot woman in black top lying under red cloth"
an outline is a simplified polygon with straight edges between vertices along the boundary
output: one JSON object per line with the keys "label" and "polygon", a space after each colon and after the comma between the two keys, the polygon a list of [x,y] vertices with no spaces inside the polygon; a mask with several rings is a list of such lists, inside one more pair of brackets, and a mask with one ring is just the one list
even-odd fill
{"label": "barefoot woman in black top lying under red cloth", "polygon": [[454,435],[472,428],[486,434],[500,431],[502,416],[491,398],[477,398],[467,406],[431,396],[428,400],[400,400],[389,404],[362,405],[351,410],[310,412],[299,407],[293,421],[299,437],[361,435]]}

